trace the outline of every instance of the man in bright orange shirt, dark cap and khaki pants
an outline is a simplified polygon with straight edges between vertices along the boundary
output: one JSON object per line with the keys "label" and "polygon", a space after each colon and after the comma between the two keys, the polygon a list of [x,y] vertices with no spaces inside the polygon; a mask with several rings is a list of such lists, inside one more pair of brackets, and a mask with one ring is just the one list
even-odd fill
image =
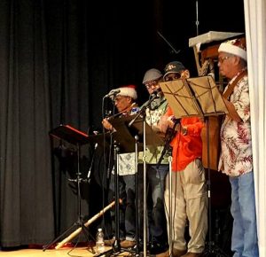
{"label": "man in bright orange shirt, dark cap and khaki pants", "polygon": [[[190,73],[180,62],[168,63],[164,80],[189,78]],[[160,130],[173,128],[175,116],[168,106],[167,113],[160,119]],[[199,117],[185,117],[175,126],[176,135],[172,146],[172,191],[169,192],[166,179],[165,202],[169,209],[169,194],[172,197],[174,257],[200,256],[205,247],[207,234],[207,183],[202,166],[202,142],[200,137],[204,123]],[[184,238],[185,227],[189,225],[190,240]]]}

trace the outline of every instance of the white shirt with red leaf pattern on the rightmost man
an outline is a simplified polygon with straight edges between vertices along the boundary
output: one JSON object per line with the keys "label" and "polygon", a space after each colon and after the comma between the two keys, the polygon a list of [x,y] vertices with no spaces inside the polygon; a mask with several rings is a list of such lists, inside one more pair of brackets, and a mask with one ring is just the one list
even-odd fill
{"label": "white shirt with red leaf pattern on the rightmost man", "polygon": [[235,106],[242,121],[232,121],[231,118],[226,116],[221,128],[222,149],[219,170],[222,170],[226,175],[238,176],[253,170],[248,92],[248,80],[247,75],[245,75],[236,84],[230,97],[230,101]]}

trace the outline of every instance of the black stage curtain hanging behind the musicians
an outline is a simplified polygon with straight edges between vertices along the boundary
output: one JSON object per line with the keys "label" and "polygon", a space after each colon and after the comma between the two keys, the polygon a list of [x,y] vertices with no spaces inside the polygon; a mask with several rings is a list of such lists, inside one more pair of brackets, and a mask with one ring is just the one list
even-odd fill
{"label": "black stage curtain hanging behind the musicians", "polygon": [[[196,31],[194,2],[183,9],[177,2],[95,1],[92,8],[88,0],[0,1],[1,247],[43,245],[78,218],[76,185],[68,181],[75,177],[75,145],[51,138],[51,129],[101,128],[109,90],[135,83],[141,104],[148,68],[162,69],[176,58],[195,67],[188,61],[192,49],[186,51]],[[172,55],[157,31],[181,55]],[[92,151],[93,145],[82,145],[82,175]],[[82,183],[85,218],[106,204],[98,204],[101,158],[92,183]]]}

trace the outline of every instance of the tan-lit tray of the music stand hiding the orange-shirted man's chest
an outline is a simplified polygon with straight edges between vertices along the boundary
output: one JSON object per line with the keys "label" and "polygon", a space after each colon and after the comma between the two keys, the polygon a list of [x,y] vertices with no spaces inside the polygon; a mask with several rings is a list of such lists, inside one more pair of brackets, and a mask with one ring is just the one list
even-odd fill
{"label": "tan-lit tray of the music stand hiding the orange-shirted man's chest", "polygon": [[212,76],[160,82],[176,119],[187,116],[217,116],[228,113]]}

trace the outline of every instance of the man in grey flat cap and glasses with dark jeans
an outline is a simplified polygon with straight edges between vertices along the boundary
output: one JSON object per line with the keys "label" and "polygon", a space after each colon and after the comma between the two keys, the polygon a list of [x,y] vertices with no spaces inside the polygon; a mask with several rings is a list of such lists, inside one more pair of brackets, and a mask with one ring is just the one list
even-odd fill
{"label": "man in grey flat cap and glasses with dark jeans", "polygon": [[[167,101],[160,90],[159,82],[162,82],[160,70],[151,68],[145,72],[143,84],[146,90],[148,90],[150,97],[155,92],[157,95],[151,105],[145,110],[145,121],[153,128],[154,132],[159,132],[157,124],[160,121],[160,116],[166,112],[167,108]],[[160,254],[168,251],[167,222],[164,207],[164,185],[165,177],[168,174],[168,156],[165,156],[161,161],[160,167],[156,167],[162,148],[162,145],[146,146],[146,176],[149,187],[147,190],[148,248],[151,254]],[[141,154],[142,152],[140,152],[140,160],[142,160]]]}

